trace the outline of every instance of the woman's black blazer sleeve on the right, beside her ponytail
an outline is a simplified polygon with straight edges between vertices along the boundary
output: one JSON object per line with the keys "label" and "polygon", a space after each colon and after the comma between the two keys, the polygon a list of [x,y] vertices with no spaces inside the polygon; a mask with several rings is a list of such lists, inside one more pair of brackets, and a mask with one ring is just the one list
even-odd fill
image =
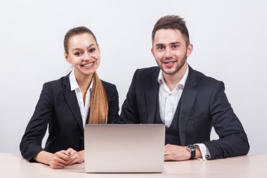
{"label": "woman's black blazer sleeve on the right, beside her ponytail", "polygon": [[108,123],[117,124],[119,121],[119,94],[115,84],[112,84],[112,95],[108,103]]}

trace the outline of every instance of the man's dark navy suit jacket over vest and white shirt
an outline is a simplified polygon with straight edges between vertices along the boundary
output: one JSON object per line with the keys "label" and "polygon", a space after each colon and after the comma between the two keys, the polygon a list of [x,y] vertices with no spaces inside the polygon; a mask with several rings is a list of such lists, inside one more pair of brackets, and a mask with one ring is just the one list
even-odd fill
{"label": "man's dark navy suit jacket over vest and white shirt", "polygon": [[[136,70],[122,106],[120,123],[155,122],[159,70],[158,67]],[[248,153],[247,135],[224,89],[223,82],[189,67],[178,117],[181,146],[204,144],[211,159]],[[218,140],[210,141],[212,126],[219,135]]]}

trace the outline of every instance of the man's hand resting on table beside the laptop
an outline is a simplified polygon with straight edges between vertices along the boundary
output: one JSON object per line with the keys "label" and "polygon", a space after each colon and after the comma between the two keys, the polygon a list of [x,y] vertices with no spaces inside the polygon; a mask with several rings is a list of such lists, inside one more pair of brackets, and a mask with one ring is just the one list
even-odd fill
{"label": "man's hand resting on table beside the laptop", "polygon": [[186,146],[165,145],[164,160],[189,160],[190,156]]}

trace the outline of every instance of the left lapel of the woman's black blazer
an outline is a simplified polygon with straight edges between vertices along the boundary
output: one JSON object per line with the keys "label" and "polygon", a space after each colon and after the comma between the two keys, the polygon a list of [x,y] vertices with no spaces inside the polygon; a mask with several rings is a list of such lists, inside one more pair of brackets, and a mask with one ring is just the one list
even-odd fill
{"label": "left lapel of the woman's black blazer", "polygon": [[64,85],[64,96],[67,101],[67,105],[70,107],[70,110],[72,110],[72,113],[79,125],[79,128],[82,132],[84,132],[84,127],[82,123],[82,115],[79,110],[79,103],[77,101],[77,96],[75,94],[75,91],[70,90],[70,79],[69,76],[66,76],[63,78],[63,85]]}

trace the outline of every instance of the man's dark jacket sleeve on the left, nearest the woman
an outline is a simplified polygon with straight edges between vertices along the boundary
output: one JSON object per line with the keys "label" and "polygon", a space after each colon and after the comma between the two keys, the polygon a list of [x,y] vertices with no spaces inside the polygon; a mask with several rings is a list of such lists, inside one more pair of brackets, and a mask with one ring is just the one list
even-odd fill
{"label": "man's dark jacket sleeve on the left, nearest the woman", "polygon": [[138,115],[138,107],[136,104],[136,75],[138,70],[134,72],[133,80],[126,95],[126,99],[122,105],[122,112],[119,118],[121,124],[137,124],[140,123]]}

